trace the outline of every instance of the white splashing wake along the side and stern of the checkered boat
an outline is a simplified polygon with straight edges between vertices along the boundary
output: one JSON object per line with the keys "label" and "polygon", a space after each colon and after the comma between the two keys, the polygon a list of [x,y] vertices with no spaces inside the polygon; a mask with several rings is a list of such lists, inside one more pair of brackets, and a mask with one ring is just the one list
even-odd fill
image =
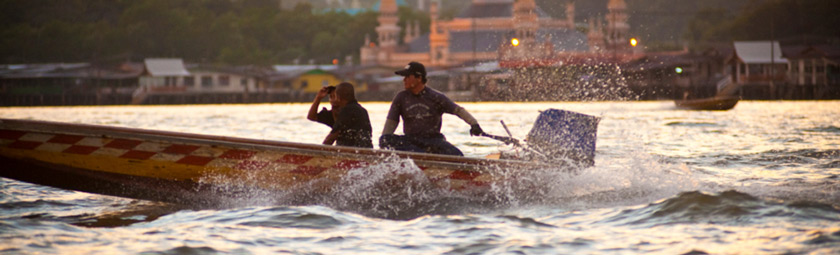
{"label": "white splashing wake along the side and stern of the checkered boat", "polygon": [[[323,183],[327,180],[316,180],[294,191],[269,192],[240,182],[217,191],[238,194],[221,207],[321,205],[368,217],[412,219],[512,208],[547,206],[575,210],[631,205],[695,190],[699,185],[684,166],[673,166],[650,156],[598,162],[593,167],[571,171],[568,167],[493,169],[493,178],[502,181],[480,190],[452,190],[440,188],[449,186],[440,182],[450,180],[431,180],[413,160],[391,156],[378,164],[348,170],[330,185]],[[324,192],[322,187],[326,186],[332,188]]]}

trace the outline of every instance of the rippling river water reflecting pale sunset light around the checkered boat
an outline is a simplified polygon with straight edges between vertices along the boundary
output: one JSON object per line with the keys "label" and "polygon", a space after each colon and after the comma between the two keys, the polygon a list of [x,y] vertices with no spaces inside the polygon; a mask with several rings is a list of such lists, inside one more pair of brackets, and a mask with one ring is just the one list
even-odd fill
{"label": "rippling river water reflecting pale sunset light around the checkered boat", "polygon": [[[362,104],[378,137],[388,103]],[[0,178],[0,254],[840,254],[840,101],[742,101],[719,112],[666,101],[461,105],[488,133],[504,134],[504,120],[518,138],[540,110],[601,117],[595,166],[522,173],[543,187],[501,205],[438,204],[451,208],[399,218],[331,206],[340,203],[189,208]],[[329,129],[305,120],[308,107],[0,108],[0,117],[317,143]],[[508,149],[470,137],[454,116],[442,132],[469,157]],[[336,199],[437,199],[348,194]]]}

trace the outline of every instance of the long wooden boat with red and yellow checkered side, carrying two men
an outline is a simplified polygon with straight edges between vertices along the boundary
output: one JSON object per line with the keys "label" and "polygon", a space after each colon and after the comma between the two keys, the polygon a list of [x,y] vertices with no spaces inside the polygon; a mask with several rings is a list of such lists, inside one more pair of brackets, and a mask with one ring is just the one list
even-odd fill
{"label": "long wooden boat with red and yellow checkered side, carrying two men", "polygon": [[[546,112],[565,112],[558,110]],[[565,112],[571,113],[571,112]],[[540,118],[543,118],[543,115]],[[546,115],[548,116],[548,115]],[[580,115],[587,116],[587,115]],[[548,120],[549,117],[543,119]],[[555,118],[556,119],[556,118]],[[598,119],[584,138],[583,165],[594,156]],[[568,121],[568,120],[567,120]],[[542,121],[543,125],[556,124]],[[555,121],[556,122],[556,121]],[[594,127],[591,126],[594,124]],[[566,125],[569,126],[568,123]],[[578,125],[578,127],[583,127]],[[556,130],[551,132],[557,133]],[[568,131],[562,132],[566,136]],[[540,139],[532,130],[529,138]],[[568,139],[567,139],[568,140]],[[585,148],[584,148],[585,147]],[[588,153],[588,154],[587,154]],[[566,151],[567,155],[573,155]],[[580,154],[580,153],[578,153]],[[0,177],[63,189],[127,198],[212,206],[238,192],[282,194],[282,203],[341,185],[357,168],[411,159],[433,187],[476,194],[508,178],[504,171],[577,169],[569,161],[469,158],[391,150],[326,146],[148,129],[0,119]],[[346,181],[346,180],[344,180]]]}

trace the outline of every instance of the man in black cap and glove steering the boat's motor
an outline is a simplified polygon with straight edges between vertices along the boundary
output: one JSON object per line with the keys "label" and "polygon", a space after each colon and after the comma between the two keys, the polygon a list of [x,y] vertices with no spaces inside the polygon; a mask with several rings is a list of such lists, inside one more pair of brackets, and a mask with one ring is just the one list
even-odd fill
{"label": "man in black cap and glove steering the boat's motor", "polygon": [[[379,147],[401,151],[425,152],[463,156],[457,147],[446,141],[440,133],[444,113],[454,114],[470,124],[470,135],[484,133],[478,121],[463,107],[452,102],[443,93],[426,87],[426,68],[417,62],[408,63],[403,70],[394,72],[403,76],[405,90],[394,97],[385,120]],[[394,131],[402,117],[405,135]]]}

